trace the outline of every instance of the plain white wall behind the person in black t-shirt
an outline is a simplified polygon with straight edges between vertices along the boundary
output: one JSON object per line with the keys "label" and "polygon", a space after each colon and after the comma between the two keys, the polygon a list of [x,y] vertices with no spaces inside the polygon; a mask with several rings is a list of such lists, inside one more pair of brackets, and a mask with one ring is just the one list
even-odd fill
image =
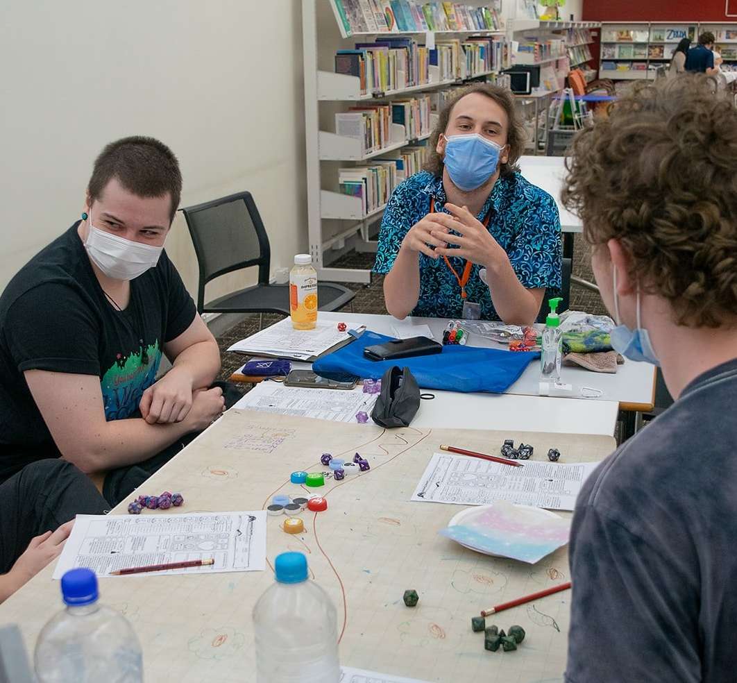
{"label": "plain white wall behind the person in black t-shirt", "polygon": [[[99,150],[133,134],[178,155],[182,206],[250,190],[272,270],[307,247],[297,0],[5,0],[0,63],[0,289],[79,217]],[[195,293],[181,214],[167,251]],[[245,282],[228,278],[208,295]]]}

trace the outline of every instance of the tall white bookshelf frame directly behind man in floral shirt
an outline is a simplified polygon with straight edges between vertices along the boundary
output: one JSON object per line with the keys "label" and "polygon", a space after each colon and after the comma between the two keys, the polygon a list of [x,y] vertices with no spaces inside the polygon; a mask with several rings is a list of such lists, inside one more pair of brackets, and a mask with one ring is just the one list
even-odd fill
{"label": "tall white bookshelf frame directly behind man in floral shirt", "polygon": [[[466,0],[467,4],[488,5],[490,1]],[[363,150],[359,139],[339,136],[332,132],[334,114],[344,111],[346,105],[371,102],[374,99],[391,99],[405,95],[431,93],[439,88],[462,84],[464,80],[441,80],[437,66],[430,66],[429,82],[411,85],[391,91],[362,93],[360,79],[336,74],[333,58],[338,49],[352,48],[354,42],[371,42],[377,36],[397,38],[466,38],[469,35],[506,36],[506,31],[462,30],[436,31],[430,37],[427,32],[353,33],[343,39],[329,0],[302,0],[302,37],[304,52],[304,121],[307,150],[307,232],[312,263],[321,279],[360,282],[368,284],[371,273],[357,268],[330,267],[335,252],[346,242],[356,251],[376,251],[377,242],[371,239],[371,226],[383,214],[384,206],[364,214],[360,197],[338,192],[338,167],[349,167],[355,162],[370,161],[391,151],[427,140],[425,135],[408,139],[405,127],[391,125],[391,143],[380,150]],[[488,77],[497,71],[475,74],[467,80]],[[436,114],[430,115],[430,131],[436,124]],[[332,253],[331,253],[332,252]]]}

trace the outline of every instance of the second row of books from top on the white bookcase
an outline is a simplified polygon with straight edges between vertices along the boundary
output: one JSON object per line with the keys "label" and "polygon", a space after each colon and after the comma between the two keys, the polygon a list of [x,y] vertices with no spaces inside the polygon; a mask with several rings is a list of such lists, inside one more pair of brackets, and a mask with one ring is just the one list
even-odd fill
{"label": "second row of books from top on the white bookcase", "polygon": [[360,79],[360,92],[385,93],[433,82],[499,71],[508,60],[506,41],[490,36],[436,41],[427,49],[411,38],[389,36],[335,54],[335,72]]}

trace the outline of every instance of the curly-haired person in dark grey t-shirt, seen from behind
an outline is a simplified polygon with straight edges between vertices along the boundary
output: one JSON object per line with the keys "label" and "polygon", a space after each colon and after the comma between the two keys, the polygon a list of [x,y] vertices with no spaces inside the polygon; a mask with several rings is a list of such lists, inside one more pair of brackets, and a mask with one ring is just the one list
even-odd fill
{"label": "curly-haired person in dark grey t-shirt, seen from behind", "polygon": [[643,84],[568,169],[612,346],[675,402],[579,494],[565,679],[734,681],[737,109],[703,75]]}

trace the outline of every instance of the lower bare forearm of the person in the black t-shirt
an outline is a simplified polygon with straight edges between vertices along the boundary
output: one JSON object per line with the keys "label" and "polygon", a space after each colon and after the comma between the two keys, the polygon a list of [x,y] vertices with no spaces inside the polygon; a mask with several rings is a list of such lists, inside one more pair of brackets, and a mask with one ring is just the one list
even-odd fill
{"label": "lower bare forearm of the person in the black t-shirt", "polygon": [[85,474],[102,472],[140,463],[193,430],[188,420],[171,424],[148,424],[142,418],[111,420],[94,438],[62,455]]}

